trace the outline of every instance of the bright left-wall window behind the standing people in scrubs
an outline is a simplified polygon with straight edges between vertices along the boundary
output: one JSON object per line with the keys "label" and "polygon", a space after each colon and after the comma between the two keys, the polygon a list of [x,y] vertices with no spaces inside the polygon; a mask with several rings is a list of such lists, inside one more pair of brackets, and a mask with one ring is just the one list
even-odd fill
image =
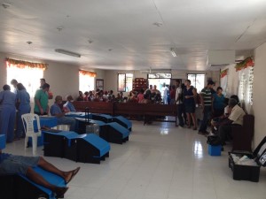
{"label": "bright left-wall window behind the standing people in scrubs", "polygon": [[24,68],[17,67],[16,65],[8,64],[7,68],[7,84],[10,84],[12,79],[22,83],[27,89],[29,96],[34,97],[35,91],[40,88],[40,79],[43,78],[43,69],[40,68]]}

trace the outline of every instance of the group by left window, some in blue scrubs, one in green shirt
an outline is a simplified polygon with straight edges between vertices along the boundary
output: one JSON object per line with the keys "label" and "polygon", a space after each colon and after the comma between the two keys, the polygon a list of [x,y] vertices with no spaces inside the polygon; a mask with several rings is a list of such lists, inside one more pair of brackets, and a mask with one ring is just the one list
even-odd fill
{"label": "group by left window, some in blue scrubs, one in green shirt", "polygon": [[[21,115],[30,113],[30,96],[22,83],[12,80],[13,90],[9,85],[4,85],[3,91],[0,92],[0,134],[6,135],[6,142],[13,142],[25,137],[25,130]],[[39,116],[51,114],[58,119],[58,125],[70,125],[70,130],[74,131],[75,119],[65,117],[66,112],[75,111],[71,106],[72,96],[66,96],[66,104],[61,109],[62,96],[55,97],[55,103],[49,106],[49,99],[52,98],[49,92],[50,85],[45,79],[40,80],[40,88],[35,92],[34,113]],[[16,114],[16,110],[18,111]],[[16,123],[16,130],[14,132]]]}

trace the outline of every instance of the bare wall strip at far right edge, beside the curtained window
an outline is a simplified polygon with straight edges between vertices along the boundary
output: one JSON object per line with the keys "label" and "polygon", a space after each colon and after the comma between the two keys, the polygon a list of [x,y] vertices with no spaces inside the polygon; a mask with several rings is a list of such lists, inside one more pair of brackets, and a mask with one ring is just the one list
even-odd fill
{"label": "bare wall strip at far right edge, beside the curtained window", "polygon": [[266,77],[266,42],[254,51],[254,90],[253,90],[253,111],[254,111],[254,146],[257,146],[262,138],[266,136],[266,103],[263,86]]}

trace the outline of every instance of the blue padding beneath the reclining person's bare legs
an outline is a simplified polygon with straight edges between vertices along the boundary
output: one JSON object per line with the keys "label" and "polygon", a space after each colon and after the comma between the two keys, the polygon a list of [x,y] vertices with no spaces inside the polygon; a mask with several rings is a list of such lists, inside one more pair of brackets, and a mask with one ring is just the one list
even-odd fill
{"label": "blue padding beneath the reclining person's bare legs", "polygon": [[[52,173],[52,172],[47,172],[45,170],[43,170],[42,168],[36,166],[35,168],[33,168],[35,172],[39,173],[40,175],[43,176],[43,178],[45,180],[47,180],[48,182],[50,182],[53,185],[59,186],[59,187],[66,187],[66,183],[65,180],[63,178],[61,178],[60,176]],[[43,186],[37,185],[35,184],[35,182],[33,182],[32,180],[27,179],[26,176],[24,175],[20,175],[21,178],[29,181],[31,184],[35,185],[35,187],[41,189],[43,192],[45,192],[47,195],[49,195],[50,199],[54,199],[55,195],[52,193],[52,191],[48,188],[44,188]]]}

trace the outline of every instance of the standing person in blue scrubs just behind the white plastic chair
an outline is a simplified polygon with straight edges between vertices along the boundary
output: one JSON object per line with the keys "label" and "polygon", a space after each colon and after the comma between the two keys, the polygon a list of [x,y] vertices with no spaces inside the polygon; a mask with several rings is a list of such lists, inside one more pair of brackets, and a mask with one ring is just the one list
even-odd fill
{"label": "standing person in blue scrubs just behind the white plastic chair", "polygon": [[17,118],[17,130],[15,133],[15,140],[19,140],[20,138],[25,137],[25,131],[23,130],[23,124],[21,115],[30,112],[30,96],[27,93],[26,88],[21,84],[18,83],[17,85],[18,93],[16,98],[16,106],[18,109],[18,118]]}

